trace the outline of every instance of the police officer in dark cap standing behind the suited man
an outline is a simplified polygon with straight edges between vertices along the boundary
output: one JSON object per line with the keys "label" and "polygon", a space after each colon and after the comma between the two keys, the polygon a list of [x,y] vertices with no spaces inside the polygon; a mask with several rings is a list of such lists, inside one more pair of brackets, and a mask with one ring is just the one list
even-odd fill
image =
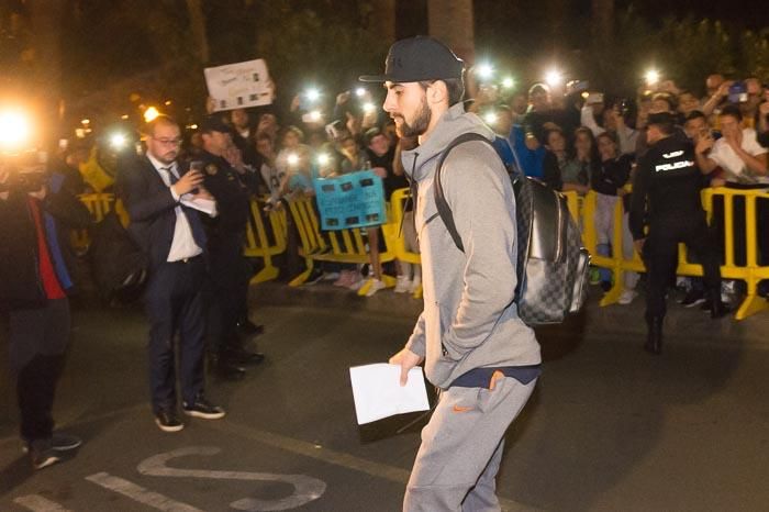
{"label": "police officer in dark cap standing behind the suited man", "polygon": [[243,243],[250,210],[249,196],[258,181],[256,175],[243,166],[232,142],[231,129],[221,118],[204,119],[200,133],[203,151],[198,165],[202,167],[204,186],[216,199],[219,209],[219,216],[208,225],[210,348],[218,375],[236,379],[245,374],[238,365],[257,364],[265,357],[244,348],[237,329],[248,297],[248,264],[243,255]]}

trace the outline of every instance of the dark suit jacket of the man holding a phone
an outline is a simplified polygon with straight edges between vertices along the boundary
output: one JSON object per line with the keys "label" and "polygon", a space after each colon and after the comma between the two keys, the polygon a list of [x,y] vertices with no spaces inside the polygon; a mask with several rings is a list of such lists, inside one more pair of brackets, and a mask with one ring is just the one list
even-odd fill
{"label": "dark suit jacket of the man holding a phone", "polygon": [[[186,171],[179,166],[180,175]],[[148,255],[151,267],[168,260],[176,229],[174,200],[155,166],[146,156],[121,162],[115,183],[118,197],[129,212],[129,233]],[[205,253],[205,233],[198,211],[181,205],[192,229],[196,244]]]}

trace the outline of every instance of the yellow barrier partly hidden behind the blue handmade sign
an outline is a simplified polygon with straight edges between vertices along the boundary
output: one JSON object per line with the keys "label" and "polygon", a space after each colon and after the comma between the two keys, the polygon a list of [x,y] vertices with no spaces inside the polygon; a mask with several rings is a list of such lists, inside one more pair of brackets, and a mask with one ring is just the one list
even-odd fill
{"label": "yellow barrier partly hidden behind the blue handmade sign", "polygon": [[[320,220],[315,213],[314,200],[309,197],[297,197],[288,201],[291,219],[299,233],[300,247],[299,255],[304,258],[307,269],[293,278],[289,286],[298,287],[307,281],[313,269],[314,261],[334,261],[347,264],[369,263],[366,241],[360,229],[349,229],[339,231],[320,230]],[[391,218],[391,215],[388,215]],[[393,245],[398,244],[397,237],[392,236],[390,229],[392,220],[382,226],[382,234],[387,244],[387,251],[379,253],[380,263],[391,261],[395,258]],[[382,275],[382,282],[387,288],[395,286],[395,278]],[[370,288],[367,281],[359,290],[359,296],[365,296]]]}

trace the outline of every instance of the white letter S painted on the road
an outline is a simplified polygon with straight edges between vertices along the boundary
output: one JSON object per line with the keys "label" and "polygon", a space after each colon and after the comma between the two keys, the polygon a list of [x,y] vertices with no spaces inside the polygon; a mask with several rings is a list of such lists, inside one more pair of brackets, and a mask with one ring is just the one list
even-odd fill
{"label": "white letter S painted on the road", "polygon": [[326,483],[316,478],[305,475],[276,475],[271,472],[254,471],[222,471],[209,469],[180,469],[171,468],[166,464],[175,458],[189,456],[211,456],[221,452],[213,446],[189,446],[175,449],[165,454],[155,455],[144,459],[136,469],[141,475],[154,477],[177,477],[177,478],[208,478],[214,480],[252,480],[252,481],[278,481],[293,486],[294,492],[286,498],[277,500],[258,500],[256,498],[245,498],[233,501],[230,507],[236,510],[248,512],[277,511],[297,509],[314,501],[323,496]]}

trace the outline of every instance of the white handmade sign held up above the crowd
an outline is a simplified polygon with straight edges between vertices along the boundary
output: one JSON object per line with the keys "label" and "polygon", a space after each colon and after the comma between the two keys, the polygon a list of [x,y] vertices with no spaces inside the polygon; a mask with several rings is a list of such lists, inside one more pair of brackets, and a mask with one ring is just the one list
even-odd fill
{"label": "white handmade sign held up above the crowd", "polygon": [[216,112],[272,103],[272,80],[261,58],[209,67],[203,73]]}

